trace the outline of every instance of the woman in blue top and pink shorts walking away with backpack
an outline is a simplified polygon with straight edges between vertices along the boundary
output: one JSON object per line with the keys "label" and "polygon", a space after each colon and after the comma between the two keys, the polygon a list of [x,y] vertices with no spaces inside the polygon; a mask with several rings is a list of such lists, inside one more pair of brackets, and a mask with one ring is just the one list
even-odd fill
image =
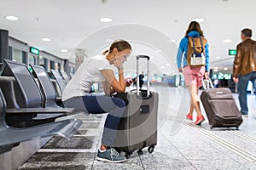
{"label": "woman in blue top and pink shorts walking away with backpack", "polygon": [[185,84],[189,88],[191,103],[187,118],[193,120],[195,109],[197,113],[195,125],[201,125],[205,118],[201,114],[198,89],[202,85],[201,78],[209,77],[209,45],[200,24],[196,21],[190,22],[185,37],[179,43],[177,69],[183,73]]}

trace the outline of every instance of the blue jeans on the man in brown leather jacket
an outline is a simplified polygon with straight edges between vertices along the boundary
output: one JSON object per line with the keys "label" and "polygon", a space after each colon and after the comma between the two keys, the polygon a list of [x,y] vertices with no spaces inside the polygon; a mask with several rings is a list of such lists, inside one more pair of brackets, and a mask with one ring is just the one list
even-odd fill
{"label": "blue jeans on the man in brown leather jacket", "polygon": [[256,88],[256,71],[250,72],[247,75],[239,77],[238,82],[238,99],[241,107],[241,114],[248,114],[247,107],[247,83],[248,81],[253,82],[253,88]]}

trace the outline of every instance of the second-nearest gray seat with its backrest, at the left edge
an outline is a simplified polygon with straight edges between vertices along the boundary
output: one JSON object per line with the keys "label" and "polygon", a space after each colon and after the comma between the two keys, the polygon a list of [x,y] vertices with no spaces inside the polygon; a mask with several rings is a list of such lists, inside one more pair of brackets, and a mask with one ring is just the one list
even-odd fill
{"label": "second-nearest gray seat with its backrest, at the left edge", "polygon": [[[75,114],[74,108],[63,107],[27,107],[22,105],[19,99],[19,90],[17,88],[15,77],[0,76],[0,88],[3,89],[3,96],[6,99],[7,111],[6,121],[10,126],[15,126],[20,122],[35,121],[34,124],[40,123],[39,120],[47,119],[46,122],[54,122],[55,118]],[[50,120],[50,118],[53,118]]]}

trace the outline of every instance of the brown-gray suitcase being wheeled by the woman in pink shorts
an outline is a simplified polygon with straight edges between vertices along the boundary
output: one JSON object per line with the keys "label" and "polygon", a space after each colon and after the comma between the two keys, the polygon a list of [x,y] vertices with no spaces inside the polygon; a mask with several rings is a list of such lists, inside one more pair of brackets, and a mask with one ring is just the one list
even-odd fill
{"label": "brown-gray suitcase being wheeled by the woman in pink shorts", "polygon": [[[212,127],[238,127],[241,125],[241,112],[229,88],[213,88],[211,80],[202,80],[201,102]],[[209,88],[212,87],[212,88]]]}

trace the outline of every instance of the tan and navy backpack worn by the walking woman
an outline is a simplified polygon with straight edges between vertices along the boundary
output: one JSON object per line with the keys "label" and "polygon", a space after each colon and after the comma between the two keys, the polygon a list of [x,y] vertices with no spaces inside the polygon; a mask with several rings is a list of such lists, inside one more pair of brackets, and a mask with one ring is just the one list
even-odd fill
{"label": "tan and navy backpack worn by the walking woman", "polygon": [[206,65],[206,50],[207,39],[202,36],[189,37],[188,50],[187,50],[187,62],[190,67],[204,66]]}

